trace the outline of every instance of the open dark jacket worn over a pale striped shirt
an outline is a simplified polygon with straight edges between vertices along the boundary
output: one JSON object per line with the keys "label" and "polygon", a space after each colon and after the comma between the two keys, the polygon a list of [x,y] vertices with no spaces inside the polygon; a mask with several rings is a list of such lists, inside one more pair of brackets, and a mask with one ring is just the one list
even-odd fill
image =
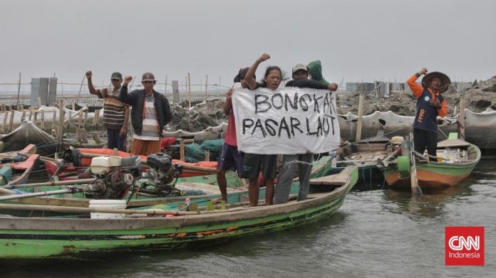
{"label": "open dark jacket worn over a pale striped shirt", "polygon": [[[131,122],[133,122],[133,128],[135,134],[141,135],[141,130],[143,128],[143,105],[145,104],[146,91],[134,90],[128,94],[128,86],[123,86],[120,89],[119,100],[127,105],[133,107],[131,109]],[[172,114],[170,112],[169,101],[165,95],[160,94],[153,90],[153,99],[155,100],[154,106],[157,111],[158,124],[160,127],[160,137],[162,137],[162,131],[167,122],[172,119]]]}

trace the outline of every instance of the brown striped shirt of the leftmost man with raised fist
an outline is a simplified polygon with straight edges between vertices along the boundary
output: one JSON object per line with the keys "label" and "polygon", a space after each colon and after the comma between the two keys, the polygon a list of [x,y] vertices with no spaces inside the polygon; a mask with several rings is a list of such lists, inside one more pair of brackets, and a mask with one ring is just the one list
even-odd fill
{"label": "brown striped shirt of the leftmost man with raised fist", "polygon": [[103,127],[106,129],[120,129],[124,125],[126,105],[119,100],[119,91],[113,86],[98,90],[98,98],[103,98]]}

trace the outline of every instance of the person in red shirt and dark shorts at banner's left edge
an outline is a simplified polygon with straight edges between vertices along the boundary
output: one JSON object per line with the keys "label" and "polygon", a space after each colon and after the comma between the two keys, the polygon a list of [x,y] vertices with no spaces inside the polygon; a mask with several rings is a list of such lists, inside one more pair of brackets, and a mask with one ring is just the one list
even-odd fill
{"label": "person in red shirt and dark shorts at banner's left edge", "polygon": [[[244,81],[244,75],[247,75],[249,68],[239,69],[239,73],[234,77],[234,83],[240,82],[242,88],[247,88]],[[237,149],[236,122],[234,121],[234,112],[232,112],[232,88],[226,92],[226,102],[224,102],[224,114],[229,115],[229,123],[220,154],[219,164],[217,164],[217,183],[219,184],[222,200],[227,201],[227,181],[226,171],[237,171],[241,177],[243,169],[244,153]]]}

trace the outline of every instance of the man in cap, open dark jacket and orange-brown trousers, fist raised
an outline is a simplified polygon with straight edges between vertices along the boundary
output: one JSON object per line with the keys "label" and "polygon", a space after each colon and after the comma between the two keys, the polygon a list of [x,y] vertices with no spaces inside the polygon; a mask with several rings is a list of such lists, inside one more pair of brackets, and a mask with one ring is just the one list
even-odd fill
{"label": "man in cap, open dark jacket and orange-brown trousers, fist raised", "polygon": [[119,100],[132,106],[133,145],[131,154],[149,155],[160,152],[160,137],[167,122],[172,119],[169,101],[165,95],[153,90],[157,82],[153,73],[144,73],[141,84],[143,90],[128,94],[128,84],[133,77],[126,76],[120,90]]}

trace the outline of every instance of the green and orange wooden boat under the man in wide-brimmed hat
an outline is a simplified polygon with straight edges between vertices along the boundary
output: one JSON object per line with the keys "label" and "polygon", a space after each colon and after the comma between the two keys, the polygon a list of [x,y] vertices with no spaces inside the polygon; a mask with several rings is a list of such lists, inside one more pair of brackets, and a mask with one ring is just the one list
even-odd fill
{"label": "green and orange wooden boat under the man in wide-brimmed hat", "polygon": [[[415,169],[422,190],[453,186],[467,178],[480,161],[480,149],[460,139],[440,141],[437,154],[438,161],[416,156]],[[383,174],[388,186],[410,189],[409,167],[410,161],[406,159],[386,166]]]}

